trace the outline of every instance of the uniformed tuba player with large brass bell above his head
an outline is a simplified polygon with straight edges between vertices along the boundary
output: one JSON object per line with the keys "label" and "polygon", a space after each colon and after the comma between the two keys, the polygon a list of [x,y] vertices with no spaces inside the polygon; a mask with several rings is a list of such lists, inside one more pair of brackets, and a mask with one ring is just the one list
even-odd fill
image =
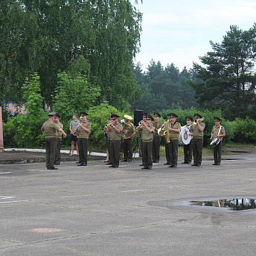
{"label": "uniformed tuba player with large brass bell above his head", "polygon": [[132,161],[132,138],[135,135],[134,125],[131,123],[133,119],[129,115],[124,115],[125,122],[122,129],[123,135],[123,149],[124,149],[124,159],[122,161]]}

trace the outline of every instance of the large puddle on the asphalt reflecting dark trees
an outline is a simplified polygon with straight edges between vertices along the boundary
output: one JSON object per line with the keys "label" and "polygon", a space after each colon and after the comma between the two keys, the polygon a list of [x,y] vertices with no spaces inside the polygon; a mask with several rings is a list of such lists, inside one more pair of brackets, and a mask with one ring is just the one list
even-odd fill
{"label": "large puddle on the asphalt reflecting dark trees", "polygon": [[212,206],[229,208],[233,211],[243,211],[256,208],[256,199],[253,198],[234,198],[218,199],[214,201],[189,201],[191,205]]}

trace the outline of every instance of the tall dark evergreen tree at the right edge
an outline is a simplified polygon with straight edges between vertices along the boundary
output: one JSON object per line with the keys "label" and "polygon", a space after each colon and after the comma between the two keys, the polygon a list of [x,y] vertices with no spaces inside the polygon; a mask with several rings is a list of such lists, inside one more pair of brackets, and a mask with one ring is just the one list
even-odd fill
{"label": "tall dark evergreen tree at the right edge", "polygon": [[213,51],[200,57],[204,66],[193,63],[201,82],[189,83],[200,106],[221,108],[226,118],[255,116],[256,25],[242,31],[231,25],[222,43],[210,42]]}

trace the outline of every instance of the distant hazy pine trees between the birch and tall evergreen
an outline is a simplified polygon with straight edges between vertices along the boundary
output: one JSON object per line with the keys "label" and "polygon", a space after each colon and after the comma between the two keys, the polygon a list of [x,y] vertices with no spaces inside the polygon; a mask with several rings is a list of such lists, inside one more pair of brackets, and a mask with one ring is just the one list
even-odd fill
{"label": "distant hazy pine trees between the birch and tall evergreen", "polygon": [[135,80],[143,96],[132,103],[132,109],[153,112],[168,108],[187,109],[195,105],[193,89],[187,83],[187,80],[193,79],[191,71],[184,68],[179,72],[173,63],[163,68],[160,62],[153,60],[147,69],[143,73],[140,63],[134,67]]}

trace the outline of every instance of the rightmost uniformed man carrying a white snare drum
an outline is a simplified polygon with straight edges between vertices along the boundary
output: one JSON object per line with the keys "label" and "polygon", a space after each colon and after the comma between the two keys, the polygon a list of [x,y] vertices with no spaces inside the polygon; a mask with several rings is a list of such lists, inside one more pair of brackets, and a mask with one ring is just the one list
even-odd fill
{"label": "rightmost uniformed man carrying a white snare drum", "polygon": [[225,137],[225,129],[222,125],[220,125],[221,119],[217,116],[214,117],[215,125],[211,130],[211,139],[220,138],[219,144],[214,147],[214,164],[220,165],[221,161],[221,151],[223,147],[223,137]]}

